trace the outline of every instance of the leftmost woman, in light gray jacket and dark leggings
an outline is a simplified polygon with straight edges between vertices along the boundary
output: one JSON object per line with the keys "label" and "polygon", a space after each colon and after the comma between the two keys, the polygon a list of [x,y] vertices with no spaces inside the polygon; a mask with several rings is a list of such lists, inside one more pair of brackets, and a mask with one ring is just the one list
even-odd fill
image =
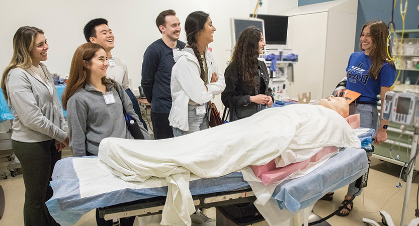
{"label": "leftmost woman, in light gray jacket and dark leggings", "polygon": [[35,27],[18,29],[13,38],[13,57],[2,77],[2,89],[13,108],[12,149],[20,160],[25,182],[25,225],[59,225],[45,202],[61,149],[69,143],[65,121],[47,60],[44,32]]}

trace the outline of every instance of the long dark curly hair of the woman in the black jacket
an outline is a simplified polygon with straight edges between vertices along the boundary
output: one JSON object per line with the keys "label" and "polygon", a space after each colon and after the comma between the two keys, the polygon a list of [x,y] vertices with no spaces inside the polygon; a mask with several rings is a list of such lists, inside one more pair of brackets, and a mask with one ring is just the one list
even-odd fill
{"label": "long dark curly hair of the woman in the black jacket", "polygon": [[238,72],[244,83],[253,85],[256,83],[255,74],[258,73],[259,41],[261,30],[250,27],[244,30],[234,47],[231,64],[238,66]]}

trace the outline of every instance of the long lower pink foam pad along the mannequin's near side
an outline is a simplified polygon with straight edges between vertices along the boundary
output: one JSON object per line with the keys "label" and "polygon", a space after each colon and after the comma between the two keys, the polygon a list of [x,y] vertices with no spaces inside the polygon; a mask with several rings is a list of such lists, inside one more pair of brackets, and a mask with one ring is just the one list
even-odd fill
{"label": "long lower pink foam pad along the mannequin's near side", "polygon": [[338,147],[335,147],[335,146],[324,147],[315,155],[313,155],[310,159],[307,159],[302,162],[291,163],[284,167],[271,169],[267,172],[262,173],[258,177],[262,180],[262,183],[264,183],[265,185],[274,183],[275,181],[283,180],[284,178],[291,175],[295,171],[306,168],[310,162],[317,162],[318,160],[323,158],[325,155],[335,152],[337,150],[338,150]]}

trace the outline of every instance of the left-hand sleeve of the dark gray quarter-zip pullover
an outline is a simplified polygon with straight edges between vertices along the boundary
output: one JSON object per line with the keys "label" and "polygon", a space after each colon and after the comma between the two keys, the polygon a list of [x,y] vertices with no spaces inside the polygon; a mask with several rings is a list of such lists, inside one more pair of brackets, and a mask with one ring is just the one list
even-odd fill
{"label": "left-hand sleeve of the dark gray quarter-zip pullover", "polygon": [[78,98],[67,102],[67,122],[70,131],[70,146],[74,157],[86,155],[87,106]]}

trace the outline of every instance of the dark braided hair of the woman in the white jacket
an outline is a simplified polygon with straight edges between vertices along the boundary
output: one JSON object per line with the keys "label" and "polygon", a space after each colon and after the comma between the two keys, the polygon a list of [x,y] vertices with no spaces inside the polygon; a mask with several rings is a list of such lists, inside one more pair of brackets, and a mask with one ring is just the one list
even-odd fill
{"label": "dark braided hair of the woman in the white jacket", "polygon": [[201,54],[198,51],[196,35],[205,27],[207,23],[209,14],[202,11],[196,11],[188,15],[185,20],[185,32],[186,40],[188,41],[189,47],[194,50],[195,56],[198,59],[199,67],[201,69],[200,77],[205,82],[208,83],[208,76],[204,71],[204,62],[202,61]]}

